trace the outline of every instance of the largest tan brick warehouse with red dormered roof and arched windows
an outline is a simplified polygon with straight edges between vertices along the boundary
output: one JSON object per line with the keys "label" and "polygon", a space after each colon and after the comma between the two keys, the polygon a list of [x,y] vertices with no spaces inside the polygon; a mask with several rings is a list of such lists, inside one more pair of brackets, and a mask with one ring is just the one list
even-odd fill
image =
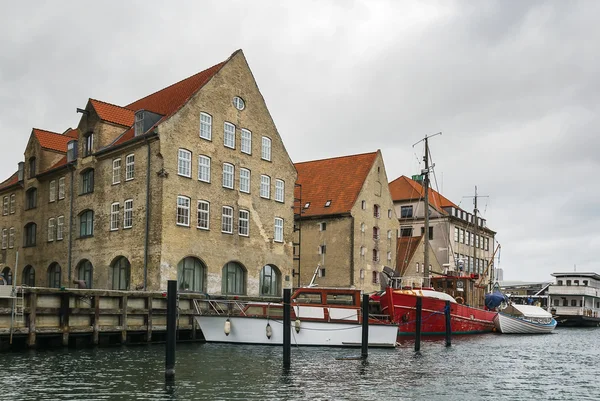
{"label": "largest tan brick warehouse with red dormered roof and arched windows", "polygon": [[[296,170],[241,50],[76,129],[33,129],[0,184],[0,273],[18,284],[277,295]],[[17,261],[18,251],[18,261]],[[290,283],[291,285],[291,283]]]}

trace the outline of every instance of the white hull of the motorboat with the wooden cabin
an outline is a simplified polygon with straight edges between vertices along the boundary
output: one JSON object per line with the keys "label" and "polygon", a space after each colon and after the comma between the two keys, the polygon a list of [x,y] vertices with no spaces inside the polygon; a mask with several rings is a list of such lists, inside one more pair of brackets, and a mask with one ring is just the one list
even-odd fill
{"label": "white hull of the motorboat with the wooden cabin", "polygon": [[[230,322],[229,335],[225,334],[225,322]],[[244,316],[196,316],[196,321],[207,342],[282,345],[283,321]],[[271,337],[267,337],[267,324]],[[292,321],[292,345],[360,347],[362,325],[304,320],[297,332]],[[396,345],[398,326],[394,324],[369,324],[369,347],[391,348]]]}

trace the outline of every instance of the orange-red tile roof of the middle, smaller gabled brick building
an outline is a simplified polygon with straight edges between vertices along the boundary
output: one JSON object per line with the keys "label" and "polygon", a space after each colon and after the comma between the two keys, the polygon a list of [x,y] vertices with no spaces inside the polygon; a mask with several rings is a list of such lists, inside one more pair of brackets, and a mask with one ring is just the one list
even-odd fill
{"label": "orange-red tile roof of the middle, smaller gabled brick building", "polygon": [[[348,213],[354,206],[378,152],[296,163],[297,183],[302,186],[302,215],[322,216]],[[295,188],[300,197],[300,188]],[[331,201],[329,207],[325,203]],[[310,202],[305,209],[304,205]]]}

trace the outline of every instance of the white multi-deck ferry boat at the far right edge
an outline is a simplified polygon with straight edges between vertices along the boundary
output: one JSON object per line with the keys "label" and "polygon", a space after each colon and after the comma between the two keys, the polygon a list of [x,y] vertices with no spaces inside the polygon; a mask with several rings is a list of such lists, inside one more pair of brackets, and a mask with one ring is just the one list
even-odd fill
{"label": "white multi-deck ferry boat at the far right edge", "polygon": [[553,273],[548,288],[550,312],[559,326],[600,326],[600,275]]}

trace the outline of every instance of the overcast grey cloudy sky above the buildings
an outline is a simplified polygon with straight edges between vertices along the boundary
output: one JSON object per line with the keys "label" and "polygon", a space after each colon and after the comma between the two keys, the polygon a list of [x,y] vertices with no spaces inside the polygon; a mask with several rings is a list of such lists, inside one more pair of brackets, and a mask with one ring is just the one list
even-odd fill
{"label": "overcast grey cloudy sky above the buildings", "polygon": [[[596,271],[598,1],[27,1],[0,14],[0,181],[75,127],[242,49],[294,162],[380,149],[479,210],[505,280]],[[437,185],[436,185],[437,183]]]}

